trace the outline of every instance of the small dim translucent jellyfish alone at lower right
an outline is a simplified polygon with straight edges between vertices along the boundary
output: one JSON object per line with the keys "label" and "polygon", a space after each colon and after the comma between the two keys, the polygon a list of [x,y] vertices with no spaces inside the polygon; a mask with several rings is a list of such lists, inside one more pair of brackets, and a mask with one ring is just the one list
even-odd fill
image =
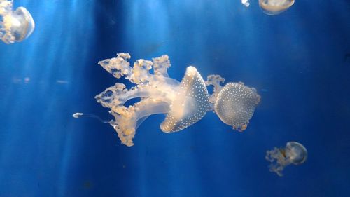
{"label": "small dim translucent jellyfish alone at lower right", "polygon": [[267,151],[265,158],[271,162],[269,171],[276,172],[281,177],[287,165],[300,165],[307,160],[307,149],[298,142],[288,142],[286,147],[274,147],[271,151]]}

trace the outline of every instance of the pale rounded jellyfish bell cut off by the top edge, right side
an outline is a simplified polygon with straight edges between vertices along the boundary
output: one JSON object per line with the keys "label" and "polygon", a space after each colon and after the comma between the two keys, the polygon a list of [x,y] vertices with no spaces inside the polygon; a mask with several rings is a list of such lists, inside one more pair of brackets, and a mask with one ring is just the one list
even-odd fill
{"label": "pale rounded jellyfish bell cut off by the top edge, right side", "polygon": [[294,0],[259,0],[262,11],[267,15],[277,15],[293,6]]}

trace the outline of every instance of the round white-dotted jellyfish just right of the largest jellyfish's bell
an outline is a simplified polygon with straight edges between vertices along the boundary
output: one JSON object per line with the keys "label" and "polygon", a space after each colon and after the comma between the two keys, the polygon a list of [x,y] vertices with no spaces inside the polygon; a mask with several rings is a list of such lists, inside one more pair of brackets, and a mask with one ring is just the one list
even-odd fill
{"label": "round white-dotted jellyfish just right of the largest jellyfish's bell", "polygon": [[243,131],[254,114],[260,95],[255,88],[244,86],[244,83],[227,83],[224,87],[221,76],[208,76],[207,85],[214,86],[214,93],[209,101],[215,101],[214,111],[224,123],[232,125],[235,130]]}

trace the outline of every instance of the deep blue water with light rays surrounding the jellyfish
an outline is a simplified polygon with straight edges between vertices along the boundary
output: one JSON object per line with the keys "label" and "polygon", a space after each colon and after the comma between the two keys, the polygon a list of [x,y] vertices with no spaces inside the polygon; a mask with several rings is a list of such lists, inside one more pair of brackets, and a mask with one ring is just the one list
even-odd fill
{"label": "deep blue water with light rays surrounding the jellyfish", "polygon": [[[239,0],[15,0],[36,29],[0,43],[0,197],[349,196],[350,1],[262,13]],[[248,129],[214,113],[179,133],[163,115],[120,144],[94,96],[117,79],[99,60],[167,54],[169,75],[243,81],[262,96]],[[304,144],[306,163],[269,172],[265,151]]]}

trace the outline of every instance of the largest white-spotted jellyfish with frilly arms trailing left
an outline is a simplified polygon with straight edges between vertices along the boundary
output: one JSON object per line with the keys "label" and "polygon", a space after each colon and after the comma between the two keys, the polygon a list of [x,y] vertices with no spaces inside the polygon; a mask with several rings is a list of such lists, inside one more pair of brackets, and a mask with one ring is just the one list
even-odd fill
{"label": "largest white-spotted jellyfish with frilly arms trailing left", "polygon": [[[188,67],[182,81],[169,78],[169,57],[137,60],[130,67],[128,53],[103,60],[99,64],[116,78],[125,76],[137,84],[127,90],[123,83],[107,88],[96,96],[97,102],[111,109],[115,120],[110,124],[123,144],[132,146],[137,127],[152,114],[167,114],[160,128],[166,133],[183,130],[199,121],[209,109],[209,94],[204,80],[195,67]],[[153,74],[150,70],[153,68]],[[140,102],[125,107],[127,100],[141,98]]]}

